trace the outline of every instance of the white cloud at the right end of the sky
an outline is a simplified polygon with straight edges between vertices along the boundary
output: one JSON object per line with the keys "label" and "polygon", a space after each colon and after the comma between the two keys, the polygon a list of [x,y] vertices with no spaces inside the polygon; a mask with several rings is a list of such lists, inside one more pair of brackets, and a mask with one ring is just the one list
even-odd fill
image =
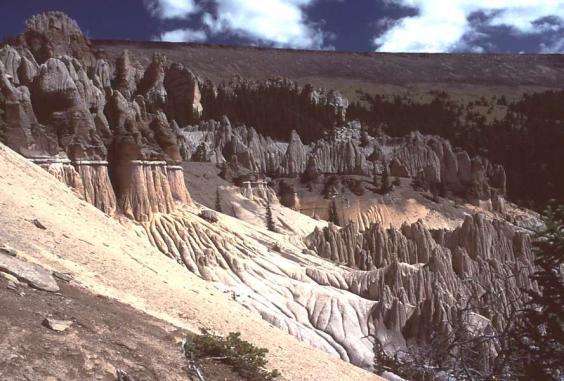
{"label": "white cloud at the right end of the sky", "polygon": [[[538,34],[544,24],[534,21],[547,16],[564,19],[562,0],[385,0],[418,10],[418,15],[398,20],[374,39],[379,51],[448,52],[465,44],[473,32],[468,17],[476,12],[488,16],[486,25],[505,26],[514,33]],[[546,29],[544,29],[546,30]],[[473,47],[479,50],[479,47]]]}

